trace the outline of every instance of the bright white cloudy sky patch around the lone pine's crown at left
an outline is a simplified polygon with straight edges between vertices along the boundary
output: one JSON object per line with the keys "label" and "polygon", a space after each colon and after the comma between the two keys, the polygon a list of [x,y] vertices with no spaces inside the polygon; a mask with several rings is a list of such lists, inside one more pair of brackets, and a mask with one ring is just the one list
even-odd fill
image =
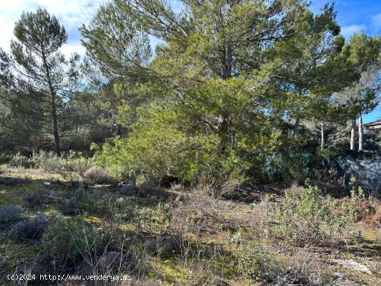
{"label": "bright white cloudy sky patch around the lone pine's crown at left", "polygon": [[107,0],[12,0],[1,1],[0,47],[8,50],[10,39],[13,37],[13,28],[21,13],[33,11],[38,7],[44,7],[48,12],[55,15],[63,24],[69,34],[68,44],[62,46],[62,53],[70,55],[76,51],[80,55],[85,54],[85,48],[80,45],[80,33],[78,27],[87,23],[96,13],[98,7]]}

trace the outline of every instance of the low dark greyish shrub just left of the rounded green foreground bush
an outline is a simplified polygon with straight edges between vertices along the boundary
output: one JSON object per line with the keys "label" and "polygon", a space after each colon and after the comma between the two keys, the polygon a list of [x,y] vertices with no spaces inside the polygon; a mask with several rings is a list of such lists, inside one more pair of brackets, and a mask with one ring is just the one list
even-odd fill
{"label": "low dark greyish shrub just left of the rounded green foreground bush", "polygon": [[48,218],[39,214],[34,220],[21,220],[12,227],[12,240],[39,240],[48,226]]}

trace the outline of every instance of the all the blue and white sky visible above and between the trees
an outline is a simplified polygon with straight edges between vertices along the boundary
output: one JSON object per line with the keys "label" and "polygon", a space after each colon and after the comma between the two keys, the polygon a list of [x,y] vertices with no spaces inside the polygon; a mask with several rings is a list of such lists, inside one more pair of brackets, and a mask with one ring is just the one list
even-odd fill
{"label": "all the blue and white sky visible above and between the trees", "polygon": [[[331,0],[312,0],[310,9],[319,12],[325,3]],[[90,21],[102,3],[107,0],[12,0],[1,1],[0,9],[0,47],[8,51],[13,37],[15,21],[23,10],[32,11],[44,7],[64,24],[69,39],[62,46],[62,53],[71,55],[77,52],[85,55],[85,48],[80,44],[81,35],[78,27]],[[177,12],[180,6],[176,0],[170,0]],[[337,22],[342,26],[342,35],[348,39],[353,33],[361,30],[368,35],[381,35],[381,0],[336,0]],[[154,44],[154,43],[153,43]],[[364,116],[364,123],[381,119],[381,105]]]}

